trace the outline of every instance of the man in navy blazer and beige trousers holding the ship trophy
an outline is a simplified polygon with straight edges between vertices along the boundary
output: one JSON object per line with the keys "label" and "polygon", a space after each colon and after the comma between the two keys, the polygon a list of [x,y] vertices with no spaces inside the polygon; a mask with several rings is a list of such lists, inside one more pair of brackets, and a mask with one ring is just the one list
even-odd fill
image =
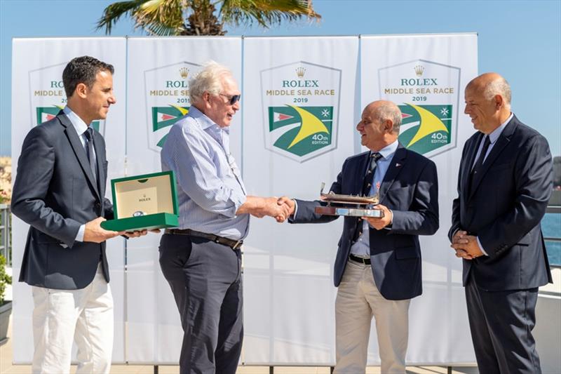
{"label": "man in navy blazer and beige trousers holding the ship trophy", "polygon": [[[401,112],[393,102],[365,107],[356,126],[369,152],[351,156],[330,191],[379,195],[382,218],[345,217],[334,266],[335,373],[365,373],[372,316],[382,373],[405,373],[410,300],[421,295],[419,235],[438,229],[435,164],[398,142]],[[279,202],[290,203],[281,198]],[[315,213],[320,201],[291,203],[291,223],[337,218]]]}

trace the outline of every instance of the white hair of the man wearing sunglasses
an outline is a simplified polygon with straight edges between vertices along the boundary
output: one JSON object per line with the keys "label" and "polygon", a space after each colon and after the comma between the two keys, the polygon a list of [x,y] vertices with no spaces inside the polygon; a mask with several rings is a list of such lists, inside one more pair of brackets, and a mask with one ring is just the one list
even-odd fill
{"label": "white hair of the man wearing sunglasses", "polygon": [[189,100],[191,104],[203,98],[203,93],[218,95],[222,91],[222,77],[232,75],[230,69],[215,61],[205,62],[203,69],[189,79]]}

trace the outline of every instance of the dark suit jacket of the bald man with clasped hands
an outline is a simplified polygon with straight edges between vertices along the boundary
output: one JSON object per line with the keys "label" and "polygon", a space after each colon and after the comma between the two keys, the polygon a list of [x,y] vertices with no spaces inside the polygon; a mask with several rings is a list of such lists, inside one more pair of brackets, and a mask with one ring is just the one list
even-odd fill
{"label": "dark suit jacket of the bald man with clasped hands", "polygon": [[464,286],[470,274],[485,290],[543,286],[551,281],[540,229],[553,188],[548,142],[513,116],[469,191],[468,176],[482,138],[475,133],[464,145],[448,232],[450,241],[458,229],[478,236],[489,254],[464,260]]}

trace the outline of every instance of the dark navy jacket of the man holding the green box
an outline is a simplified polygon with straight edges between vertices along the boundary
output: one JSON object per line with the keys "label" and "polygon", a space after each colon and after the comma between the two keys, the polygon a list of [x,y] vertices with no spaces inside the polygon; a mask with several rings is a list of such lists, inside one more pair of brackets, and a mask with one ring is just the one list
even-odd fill
{"label": "dark navy jacket of the man holding the green box", "polygon": [[105,142],[97,131],[93,139],[99,187],[79,135],[62,111],[27,134],[11,204],[12,213],[31,225],[20,281],[62,290],[84,288],[93,280],[100,258],[109,281],[105,243],[74,241],[84,223],[99,216],[113,218],[113,206],[103,197]]}

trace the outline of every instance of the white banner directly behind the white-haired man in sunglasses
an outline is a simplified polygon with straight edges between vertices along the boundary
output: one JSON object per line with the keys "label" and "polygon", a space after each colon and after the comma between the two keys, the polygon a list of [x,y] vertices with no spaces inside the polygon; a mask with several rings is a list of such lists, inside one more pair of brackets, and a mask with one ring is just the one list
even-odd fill
{"label": "white banner directly behind the white-haired man in sunglasses", "polygon": [[[165,136],[189,111],[189,77],[215,60],[231,69],[241,87],[241,38],[128,39],[127,175],[161,170]],[[231,150],[241,158],[241,114],[231,123]],[[189,167],[186,165],[186,167]],[[180,314],[158,262],[160,235],[127,242],[127,360],[177,363]]]}

